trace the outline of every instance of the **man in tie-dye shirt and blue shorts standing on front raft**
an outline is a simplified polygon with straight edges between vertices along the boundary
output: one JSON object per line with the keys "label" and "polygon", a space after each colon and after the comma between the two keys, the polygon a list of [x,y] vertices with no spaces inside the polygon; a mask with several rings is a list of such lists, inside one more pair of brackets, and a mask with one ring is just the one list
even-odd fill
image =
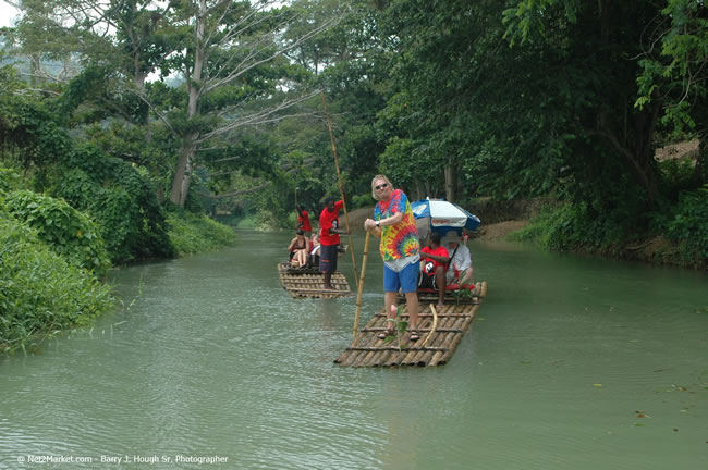
{"label": "man in tie-dye shirt and blue shorts standing on front raft", "polygon": [[[410,341],[419,338],[418,327],[418,272],[420,242],[411,203],[405,193],[393,189],[384,175],[371,180],[371,196],[379,202],[374,208],[374,219],[364,222],[364,228],[381,237],[381,258],[383,258],[383,292],[386,293],[386,314],[394,320],[399,289],[405,294],[408,309]],[[395,323],[390,321],[387,331],[379,335],[384,339],[395,334]]]}

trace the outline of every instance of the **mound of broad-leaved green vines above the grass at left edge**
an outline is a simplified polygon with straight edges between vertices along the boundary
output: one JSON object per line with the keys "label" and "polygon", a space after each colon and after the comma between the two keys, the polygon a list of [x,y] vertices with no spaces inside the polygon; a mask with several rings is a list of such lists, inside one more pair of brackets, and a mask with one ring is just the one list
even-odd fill
{"label": "mound of broad-leaved green vines above the grass at left edge", "polygon": [[16,220],[27,223],[54,252],[101,277],[110,261],[98,226],[60,199],[29,190],[9,193],[0,201]]}

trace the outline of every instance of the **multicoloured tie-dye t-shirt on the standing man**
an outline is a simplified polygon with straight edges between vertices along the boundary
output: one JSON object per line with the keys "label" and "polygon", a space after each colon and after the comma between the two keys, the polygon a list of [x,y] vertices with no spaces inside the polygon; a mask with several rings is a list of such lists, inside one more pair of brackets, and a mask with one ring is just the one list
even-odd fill
{"label": "multicoloured tie-dye t-shirt on the standing man", "polygon": [[417,256],[420,249],[418,230],[411,210],[408,198],[401,189],[395,189],[391,199],[379,201],[374,208],[374,220],[389,218],[396,212],[403,214],[403,220],[396,225],[382,226],[381,230],[381,258],[383,261],[393,261],[401,258]]}

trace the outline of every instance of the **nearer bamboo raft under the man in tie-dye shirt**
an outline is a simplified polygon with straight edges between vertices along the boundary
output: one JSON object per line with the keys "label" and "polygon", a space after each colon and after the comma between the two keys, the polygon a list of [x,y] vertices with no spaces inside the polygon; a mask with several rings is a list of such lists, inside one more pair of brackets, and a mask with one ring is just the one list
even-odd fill
{"label": "nearer bamboo raft under the man in tie-dye shirt", "polygon": [[[422,296],[418,311],[420,338],[415,343],[408,341],[408,332],[396,336],[393,342],[379,339],[378,334],[387,329],[386,311],[381,309],[334,362],[342,367],[442,366],[452,357],[486,295],[487,282],[479,282],[469,297],[445,297],[444,308],[437,312],[437,324],[430,308],[430,304],[437,304],[437,296],[430,304],[423,300],[427,295]],[[399,311],[399,319],[401,317],[407,321],[407,312],[401,316]]]}

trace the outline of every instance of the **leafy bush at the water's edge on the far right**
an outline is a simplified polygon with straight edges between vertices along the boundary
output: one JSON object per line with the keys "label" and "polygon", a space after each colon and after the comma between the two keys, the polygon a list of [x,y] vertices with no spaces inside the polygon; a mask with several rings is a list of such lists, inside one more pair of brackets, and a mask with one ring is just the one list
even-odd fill
{"label": "leafy bush at the water's edge on the far right", "polygon": [[681,195],[667,224],[668,238],[681,246],[681,259],[694,265],[708,263],[708,185]]}

